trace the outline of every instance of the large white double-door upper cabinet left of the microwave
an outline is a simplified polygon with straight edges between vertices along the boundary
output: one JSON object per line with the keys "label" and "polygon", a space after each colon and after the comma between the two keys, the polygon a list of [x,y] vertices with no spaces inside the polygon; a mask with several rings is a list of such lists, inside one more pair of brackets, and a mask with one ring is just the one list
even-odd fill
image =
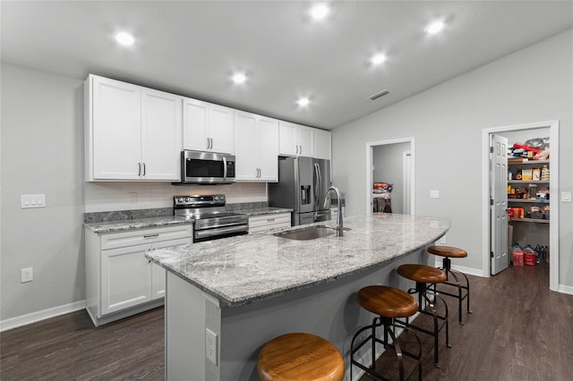
{"label": "large white double-door upper cabinet left of the microwave", "polygon": [[84,91],[86,181],[180,180],[181,97],[94,75]]}

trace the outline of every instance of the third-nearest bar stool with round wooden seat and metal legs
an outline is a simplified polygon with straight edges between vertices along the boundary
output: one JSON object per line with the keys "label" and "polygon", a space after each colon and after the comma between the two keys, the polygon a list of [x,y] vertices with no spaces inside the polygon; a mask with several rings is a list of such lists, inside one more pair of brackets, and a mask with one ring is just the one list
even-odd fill
{"label": "third-nearest bar stool with round wooden seat and metal legs", "polygon": [[[430,315],[433,318],[432,331],[429,331],[421,326],[412,326],[409,324],[407,319],[406,325],[424,334],[432,334],[434,366],[436,368],[440,368],[438,344],[440,331],[444,326],[446,327],[446,346],[451,348],[451,345],[449,345],[448,304],[443,300],[442,297],[440,297],[440,295],[432,291],[431,286],[432,284],[435,285],[446,282],[446,274],[435,267],[415,264],[401,265],[398,267],[397,271],[398,275],[415,281],[415,288],[408,290],[408,293],[418,294],[418,312],[424,315]],[[440,300],[444,304],[445,314],[443,316],[439,315],[436,311],[436,300]],[[427,304],[430,307],[430,312],[426,311],[424,304]],[[439,320],[443,321],[441,325],[439,324]]]}

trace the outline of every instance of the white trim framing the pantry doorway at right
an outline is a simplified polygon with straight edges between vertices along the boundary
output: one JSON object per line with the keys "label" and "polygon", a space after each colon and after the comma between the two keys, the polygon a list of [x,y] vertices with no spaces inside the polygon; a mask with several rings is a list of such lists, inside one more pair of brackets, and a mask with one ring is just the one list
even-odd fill
{"label": "white trim framing the pantry doorway at right", "polygon": [[[552,202],[552,220],[549,226],[549,245],[550,250],[550,270],[549,270],[549,288],[552,291],[561,292],[564,287],[559,284],[559,267],[560,267],[560,247],[559,247],[559,121],[548,121],[539,123],[517,124],[503,127],[494,127],[482,130],[482,247],[483,247],[483,276],[489,277],[491,274],[490,260],[490,157],[489,145],[490,134],[495,132],[532,130],[540,128],[550,128],[549,141],[552,147],[551,154],[551,171],[552,176],[549,182],[550,199]],[[569,292],[566,292],[569,293]]]}

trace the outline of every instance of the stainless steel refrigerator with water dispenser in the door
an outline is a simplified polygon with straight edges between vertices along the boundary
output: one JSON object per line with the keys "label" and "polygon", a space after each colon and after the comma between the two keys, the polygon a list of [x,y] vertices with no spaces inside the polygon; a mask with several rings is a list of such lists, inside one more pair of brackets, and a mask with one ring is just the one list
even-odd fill
{"label": "stainless steel refrigerator with water dispenser in the door", "polygon": [[313,157],[278,157],[278,182],[269,183],[269,207],[294,209],[292,224],[328,221],[323,207],[330,186],[330,161]]}

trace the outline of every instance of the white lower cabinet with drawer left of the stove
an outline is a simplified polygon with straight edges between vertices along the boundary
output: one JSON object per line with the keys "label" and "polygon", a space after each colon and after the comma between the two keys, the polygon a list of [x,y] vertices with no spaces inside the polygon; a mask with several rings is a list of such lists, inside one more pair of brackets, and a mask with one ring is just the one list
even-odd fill
{"label": "white lower cabinet with drawer left of the stove", "polygon": [[145,252],[190,243],[189,224],[102,234],[86,229],[86,309],[94,325],[163,304],[165,269]]}

